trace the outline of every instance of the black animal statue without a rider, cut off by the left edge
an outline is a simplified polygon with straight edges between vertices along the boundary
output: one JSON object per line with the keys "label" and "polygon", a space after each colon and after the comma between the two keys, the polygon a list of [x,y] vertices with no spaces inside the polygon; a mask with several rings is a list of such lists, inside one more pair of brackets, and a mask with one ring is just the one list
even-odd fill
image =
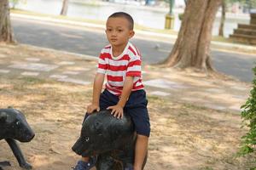
{"label": "black animal statue without a rider, cut off by the left edge", "polygon": [[[35,133],[33,133],[32,128],[26,122],[23,113],[12,108],[0,109],[0,139],[6,140],[20,167],[25,169],[32,169],[32,166],[25,160],[15,140],[30,142],[34,136]],[[0,169],[9,165],[9,161],[0,161]]]}

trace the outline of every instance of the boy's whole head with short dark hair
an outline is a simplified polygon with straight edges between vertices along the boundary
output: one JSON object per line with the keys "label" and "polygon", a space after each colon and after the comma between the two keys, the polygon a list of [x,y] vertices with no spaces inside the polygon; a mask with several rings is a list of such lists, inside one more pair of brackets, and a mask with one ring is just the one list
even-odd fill
{"label": "boy's whole head with short dark hair", "polygon": [[115,48],[124,48],[134,36],[133,25],[130,14],[124,12],[111,14],[106,23],[108,42]]}

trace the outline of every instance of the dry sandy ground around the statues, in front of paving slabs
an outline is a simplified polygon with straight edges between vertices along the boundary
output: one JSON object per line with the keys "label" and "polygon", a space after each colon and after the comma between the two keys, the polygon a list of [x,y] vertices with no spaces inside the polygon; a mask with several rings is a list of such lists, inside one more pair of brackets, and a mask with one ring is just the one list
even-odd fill
{"label": "dry sandy ground around the statues, in front of paving slabs", "polygon": [[[33,169],[71,169],[79,160],[71,147],[91,100],[91,84],[9,75],[1,75],[0,82],[0,108],[13,106],[24,112],[36,133],[30,143],[20,143]],[[146,170],[244,170],[256,166],[255,156],[236,156],[245,133],[239,114],[150,94],[148,111],[152,131]],[[0,160],[11,162],[7,170],[20,169],[4,140],[0,141]]]}

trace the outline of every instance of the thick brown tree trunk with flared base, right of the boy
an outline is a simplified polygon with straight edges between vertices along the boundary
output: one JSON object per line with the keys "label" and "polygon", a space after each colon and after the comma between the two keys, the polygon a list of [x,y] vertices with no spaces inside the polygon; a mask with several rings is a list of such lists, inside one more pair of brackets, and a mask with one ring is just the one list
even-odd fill
{"label": "thick brown tree trunk with flared base, right of the boy", "polygon": [[221,0],[189,0],[177,40],[164,65],[213,71],[210,60],[212,25]]}

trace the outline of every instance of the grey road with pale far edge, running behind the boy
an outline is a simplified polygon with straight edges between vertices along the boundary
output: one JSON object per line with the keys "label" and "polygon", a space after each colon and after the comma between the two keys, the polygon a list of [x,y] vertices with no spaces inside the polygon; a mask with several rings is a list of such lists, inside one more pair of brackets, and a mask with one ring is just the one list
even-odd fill
{"label": "grey road with pale far edge, running behind the boy", "polygon": [[[12,23],[18,42],[38,47],[96,57],[102,47],[108,44],[103,25],[24,14],[12,14]],[[131,42],[134,42],[140,49],[143,63],[152,64],[166,59],[176,38],[177,35],[137,30]],[[256,47],[212,42],[212,63],[219,72],[241,81],[251,82],[253,61],[256,60],[256,55],[241,54],[237,51],[255,52],[256,54]]]}

